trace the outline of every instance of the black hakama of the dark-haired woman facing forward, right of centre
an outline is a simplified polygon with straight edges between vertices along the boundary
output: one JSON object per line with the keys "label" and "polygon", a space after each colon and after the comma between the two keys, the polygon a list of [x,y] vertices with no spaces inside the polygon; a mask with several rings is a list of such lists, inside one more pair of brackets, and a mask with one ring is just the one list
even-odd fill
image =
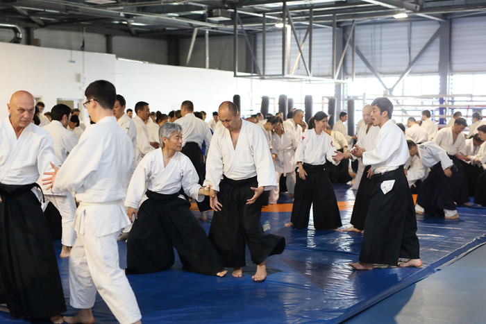
{"label": "black hakama of the dark-haired woman facing forward, right of centre", "polygon": [[324,165],[303,164],[307,176],[302,180],[299,168],[296,169],[294,205],[290,221],[294,228],[307,228],[310,206],[316,230],[334,230],[342,226],[340,209],[337,207],[336,194]]}

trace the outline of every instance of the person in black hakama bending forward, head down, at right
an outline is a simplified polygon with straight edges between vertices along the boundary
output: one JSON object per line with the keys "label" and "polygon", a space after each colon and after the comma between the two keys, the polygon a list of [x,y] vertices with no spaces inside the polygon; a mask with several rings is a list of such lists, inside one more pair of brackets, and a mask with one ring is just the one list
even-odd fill
{"label": "person in black hakama bending forward, head down, at right", "polygon": [[435,142],[417,145],[413,141],[407,141],[407,145],[410,156],[419,157],[425,167],[430,168],[430,173],[419,187],[415,212],[458,219],[454,204],[454,182],[451,178],[458,169],[447,152]]}

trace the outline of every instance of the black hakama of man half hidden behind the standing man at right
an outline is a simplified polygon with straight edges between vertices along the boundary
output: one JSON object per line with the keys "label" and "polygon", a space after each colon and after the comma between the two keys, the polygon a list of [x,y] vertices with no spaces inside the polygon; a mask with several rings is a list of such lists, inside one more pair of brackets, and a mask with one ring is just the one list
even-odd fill
{"label": "black hakama of man half hidden behind the standing man at right", "polygon": [[371,191],[373,191],[375,187],[374,178],[368,178],[368,171],[370,168],[370,165],[364,168],[360,186],[358,187],[358,192],[356,193],[354,201],[353,214],[351,214],[351,225],[357,230],[364,230],[364,223],[366,221],[366,216],[368,215],[369,198],[371,196]]}

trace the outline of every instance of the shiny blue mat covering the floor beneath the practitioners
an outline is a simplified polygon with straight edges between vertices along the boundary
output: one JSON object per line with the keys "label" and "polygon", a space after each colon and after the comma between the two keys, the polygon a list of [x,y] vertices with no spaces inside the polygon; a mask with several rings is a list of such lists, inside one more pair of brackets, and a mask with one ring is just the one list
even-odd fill
{"label": "shiny blue mat covering the floor beneath the practitioners", "polygon": [[[338,201],[353,200],[349,186],[335,185]],[[486,208],[458,208],[460,220],[420,217],[417,235],[421,268],[352,271],[362,235],[358,233],[292,230],[283,225],[290,212],[265,212],[266,232],[285,236],[282,255],[267,259],[267,280],[252,282],[255,266],[244,268],[243,278],[210,277],[182,271],[181,262],[168,271],[129,275],[143,323],[340,323],[392,293],[417,282],[486,243]],[[342,211],[349,225],[351,211]],[[312,220],[312,218],[311,218]],[[209,230],[210,223],[202,223]],[[55,241],[60,253],[60,241]],[[119,243],[120,266],[126,266],[126,244]],[[68,260],[59,259],[62,284],[69,306]],[[250,261],[247,253],[247,262]],[[97,296],[93,308],[97,323],[117,323]],[[0,312],[1,323],[26,323]],[[44,322],[37,322],[44,323]],[[45,322],[49,323],[49,322]]]}

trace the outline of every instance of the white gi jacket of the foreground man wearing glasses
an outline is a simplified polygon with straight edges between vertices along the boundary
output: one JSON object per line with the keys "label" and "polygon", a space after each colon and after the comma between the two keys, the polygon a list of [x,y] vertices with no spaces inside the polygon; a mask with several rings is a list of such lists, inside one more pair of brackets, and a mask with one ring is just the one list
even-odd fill
{"label": "white gi jacket of the foreground man wearing glasses", "polygon": [[102,237],[125,228],[130,221],[121,200],[133,162],[133,144],[113,116],[86,128],[62,167],[53,193],[76,193],[81,205],[76,210],[74,229],[84,234],[89,217],[94,235]]}

